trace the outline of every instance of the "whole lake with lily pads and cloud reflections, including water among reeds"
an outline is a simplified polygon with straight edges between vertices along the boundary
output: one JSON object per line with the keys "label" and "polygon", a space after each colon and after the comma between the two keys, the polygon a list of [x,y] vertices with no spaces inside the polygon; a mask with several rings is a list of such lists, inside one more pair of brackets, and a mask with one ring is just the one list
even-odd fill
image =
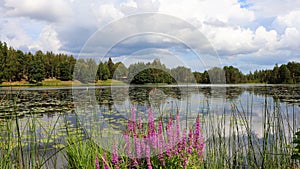
{"label": "whole lake with lily pads and cloud reflections, including water among reeds", "polygon": [[266,131],[270,139],[284,133],[285,143],[290,143],[300,127],[300,85],[254,84],[0,88],[0,126],[16,120],[25,150],[32,146],[33,126],[40,148],[59,149],[66,125],[80,125],[82,137],[96,136],[96,142],[111,133],[120,135],[132,106],[145,122],[150,107],[155,119],[179,113],[182,128],[193,126],[200,116],[207,145],[220,133],[227,139],[246,135],[260,143]]}

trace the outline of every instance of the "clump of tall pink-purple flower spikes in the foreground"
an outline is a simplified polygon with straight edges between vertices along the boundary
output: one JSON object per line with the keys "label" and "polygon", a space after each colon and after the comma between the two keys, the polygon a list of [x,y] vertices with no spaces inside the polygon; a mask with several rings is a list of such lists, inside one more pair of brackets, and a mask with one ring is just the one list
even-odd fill
{"label": "clump of tall pink-purple flower spikes in the foreground", "polygon": [[[125,156],[117,155],[116,147],[109,163],[111,168],[190,168],[202,165],[204,152],[204,137],[201,133],[200,117],[196,119],[194,128],[181,130],[180,116],[176,114],[176,121],[172,117],[163,128],[163,121],[160,119],[155,123],[154,112],[148,109],[148,122],[141,124],[136,122],[134,109],[131,119],[128,119],[127,130],[123,136],[125,140]],[[145,126],[145,127],[141,127]],[[189,131],[188,133],[186,131]],[[127,156],[126,156],[127,155]],[[102,168],[108,168],[107,153],[102,154]],[[98,156],[96,156],[97,158]],[[120,160],[120,158],[127,158]],[[97,160],[96,160],[97,161]],[[101,164],[97,162],[96,166]]]}

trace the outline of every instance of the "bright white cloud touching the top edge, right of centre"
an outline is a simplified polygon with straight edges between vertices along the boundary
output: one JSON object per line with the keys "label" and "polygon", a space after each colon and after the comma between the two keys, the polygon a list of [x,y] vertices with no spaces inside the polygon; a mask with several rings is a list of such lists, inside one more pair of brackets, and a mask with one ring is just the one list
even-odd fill
{"label": "bright white cloud touching the top edge, right of centre", "polygon": [[160,1],[160,11],[180,18],[197,18],[200,21],[219,20],[231,24],[245,23],[254,20],[254,13],[240,8],[235,0],[181,0]]}

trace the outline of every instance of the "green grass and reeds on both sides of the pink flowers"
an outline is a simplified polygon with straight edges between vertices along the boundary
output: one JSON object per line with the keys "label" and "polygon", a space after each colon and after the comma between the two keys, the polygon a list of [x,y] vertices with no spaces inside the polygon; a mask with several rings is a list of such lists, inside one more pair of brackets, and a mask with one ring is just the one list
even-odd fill
{"label": "green grass and reeds on both sides of the pink flowers", "polygon": [[[252,129],[255,125],[252,109],[253,103],[249,101],[232,103],[230,113],[224,110],[201,115],[206,144],[203,161],[191,163],[189,168],[297,168],[298,163],[291,159],[296,129],[288,119],[290,114],[299,112],[283,111],[278,100],[265,98],[261,107],[262,135],[257,136]],[[80,123],[74,125],[60,116],[52,121],[43,121],[34,114],[26,120],[17,116],[1,120],[0,135],[3,169],[61,168],[62,159],[68,168],[96,168],[96,158],[100,166],[107,164],[113,168],[110,151],[85,135]],[[189,158],[197,161],[199,156],[191,154]],[[126,156],[120,156],[119,160],[123,161],[120,168],[128,168],[132,162]],[[157,164],[153,168],[159,168],[158,158],[151,160]],[[170,168],[178,168],[175,163],[180,160],[179,157],[170,160],[173,166]],[[147,164],[143,162],[142,166]]]}

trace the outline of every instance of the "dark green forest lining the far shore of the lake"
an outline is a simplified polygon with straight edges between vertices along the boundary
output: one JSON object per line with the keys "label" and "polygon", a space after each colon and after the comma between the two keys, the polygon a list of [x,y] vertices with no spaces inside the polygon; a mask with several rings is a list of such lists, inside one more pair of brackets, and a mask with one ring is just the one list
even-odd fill
{"label": "dark green forest lining the far shore of the lake", "polygon": [[181,82],[209,84],[225,81],[229,84],[296,84],[300,83],[300,63],[288,62],[280,66],[276,64],[273,69],[255,70],[248,74],[243,74],[233,66],[192,72],[190,68],[183,66],[167,68],[159,59],[126,67],[122,62],[114,63],[111,58],[97,63],[93,59],[76,59],[72,55],[53,52],[26,53],[8,47],[5,42],[0,41],[0,84],[21,80],[37,84],[45,79],[79,80],[82,83],[115,79],[132,84]]}

